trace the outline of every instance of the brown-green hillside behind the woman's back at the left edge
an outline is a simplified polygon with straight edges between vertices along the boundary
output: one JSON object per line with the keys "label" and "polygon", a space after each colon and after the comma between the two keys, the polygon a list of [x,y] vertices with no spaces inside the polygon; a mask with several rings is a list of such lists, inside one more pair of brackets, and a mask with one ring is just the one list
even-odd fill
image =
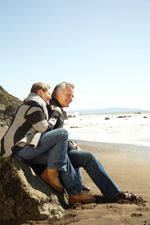
{"label": "brown-green hillside behind the woman's back at the left edge", "polygon": [[8,106],[16,110],[22,101],[13,95],[9,94],[1,85],[0,85],[0,112],[3,112],[8,108]]}

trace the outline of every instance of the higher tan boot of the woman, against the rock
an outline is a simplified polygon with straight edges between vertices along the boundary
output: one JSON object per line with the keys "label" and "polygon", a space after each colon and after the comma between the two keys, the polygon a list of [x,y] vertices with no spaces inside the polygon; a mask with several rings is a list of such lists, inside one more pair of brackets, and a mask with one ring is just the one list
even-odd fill
{"label": "higher tan boot of the woman, against the rock", "polygon": [[42,174],[41,178],[50,186],[52,186],[56,191],[63,192],[63,186],[59,180],[59,170],[56,169],[46,169]]}

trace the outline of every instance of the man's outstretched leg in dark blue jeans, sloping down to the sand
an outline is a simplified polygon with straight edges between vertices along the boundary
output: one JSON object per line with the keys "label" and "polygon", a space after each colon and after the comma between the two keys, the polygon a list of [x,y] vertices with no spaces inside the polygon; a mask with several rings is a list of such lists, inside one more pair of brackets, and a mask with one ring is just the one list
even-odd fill
{"label": "man's outstretched leg in dark blue jeans, sloping down to the sand", "polygon": [[100,161],[91,152],[71,150],[68,156],[74,168],[83,167],[86,170],[104,197],[114,199],[121,192]]}

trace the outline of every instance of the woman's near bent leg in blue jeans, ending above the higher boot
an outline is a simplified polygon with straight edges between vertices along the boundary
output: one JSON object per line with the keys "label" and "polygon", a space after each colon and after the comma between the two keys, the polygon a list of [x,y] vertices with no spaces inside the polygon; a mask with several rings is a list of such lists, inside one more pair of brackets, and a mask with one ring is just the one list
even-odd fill
{"label": "woman's near bent leg in blue jeans, ending above the higher boot", "polygon": [[36,148],[26,145],[16,156],[32,164],[45,164],[48,169],[66,170],[68,132],[56,129],[42,134]]}

